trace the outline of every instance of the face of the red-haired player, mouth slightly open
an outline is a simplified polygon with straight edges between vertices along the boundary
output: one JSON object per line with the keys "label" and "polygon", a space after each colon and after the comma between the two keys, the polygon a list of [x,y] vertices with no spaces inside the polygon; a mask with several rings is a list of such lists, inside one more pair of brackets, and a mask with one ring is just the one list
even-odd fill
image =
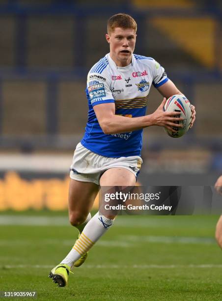
{"label": "face of the red-haired player, mouth slightly open", "polygon": [[133,29],[115,28],[110,34],[106,34],[107,42],[110,44],[110,55],[119,67],[131,63],[132,54],[136,43],[136,32]]}

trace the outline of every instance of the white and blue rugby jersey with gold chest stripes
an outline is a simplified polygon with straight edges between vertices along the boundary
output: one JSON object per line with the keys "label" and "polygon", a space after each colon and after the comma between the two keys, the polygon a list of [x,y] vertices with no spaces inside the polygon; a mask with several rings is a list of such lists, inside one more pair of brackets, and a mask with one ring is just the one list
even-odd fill
{"label": "white and blue rugby jersey with gold chest stripes", "polygon": [[134,54],[131,64],[118,67],[110,54],[107,54],[91,68],[87,76],[85,91],[89,111],[81,144],[106,157],[140,156],[142,129],[122,134],[104,134],[93,107],[113,102],[116,115],[126,118],[144,116],[151,84],[158,88],[167,80],[164,68],[152,58]]}

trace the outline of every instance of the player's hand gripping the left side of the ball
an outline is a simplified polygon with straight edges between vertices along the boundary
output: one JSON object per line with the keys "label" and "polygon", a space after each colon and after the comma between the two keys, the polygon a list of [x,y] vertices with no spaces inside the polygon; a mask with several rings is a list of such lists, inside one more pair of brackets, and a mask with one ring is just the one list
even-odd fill
{"label": "player's hand gripping the left side of the ball", "polygon": [[167,98],[164,97],[164,100],[157,108],[157,110],[153,114],[151,114],[152,125],[164,126],[170,131],[176,133],[177,131],[174,130],[173,127],[182,127],[183,125],[175,123],[175,121],[178,122],[179,120],[183,120],[183,118],[176,117],[180,115],[180,113],[178,112],[165,112],[164,106],[166,101]]}

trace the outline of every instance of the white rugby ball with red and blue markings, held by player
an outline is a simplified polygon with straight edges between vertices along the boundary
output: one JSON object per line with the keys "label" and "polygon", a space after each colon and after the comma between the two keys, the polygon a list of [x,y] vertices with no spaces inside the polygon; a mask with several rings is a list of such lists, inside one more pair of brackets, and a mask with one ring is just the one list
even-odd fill
{"label": "white rugby ball with red and blue markings, held by player", "polygon": [[164,106],[165,112],[178,112],[180,116],[184,118],[184,120],[180,120],[176,123],[182,124],[183,127],[173,127],[176,130],[176,133],[170,131],[169,129],[165,128],[167,134],[173,138],[179,138],[183,136],[190,128],[191,123],[191,104],[190,101],[187,99],[186,96],[176,94],[169,97],[166,101]]}

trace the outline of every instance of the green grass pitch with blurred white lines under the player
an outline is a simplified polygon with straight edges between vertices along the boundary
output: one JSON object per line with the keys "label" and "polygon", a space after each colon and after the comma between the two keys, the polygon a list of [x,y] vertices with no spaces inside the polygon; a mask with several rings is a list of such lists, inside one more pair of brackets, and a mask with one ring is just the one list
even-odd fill
{"label": "green grass pitch with blurred white lines under the player", "polygon": [[58,288],[48,274],[77,238],[66,215],[0,214],[0,291],[46,301],[222,300],[218,216],[119,216]]}

